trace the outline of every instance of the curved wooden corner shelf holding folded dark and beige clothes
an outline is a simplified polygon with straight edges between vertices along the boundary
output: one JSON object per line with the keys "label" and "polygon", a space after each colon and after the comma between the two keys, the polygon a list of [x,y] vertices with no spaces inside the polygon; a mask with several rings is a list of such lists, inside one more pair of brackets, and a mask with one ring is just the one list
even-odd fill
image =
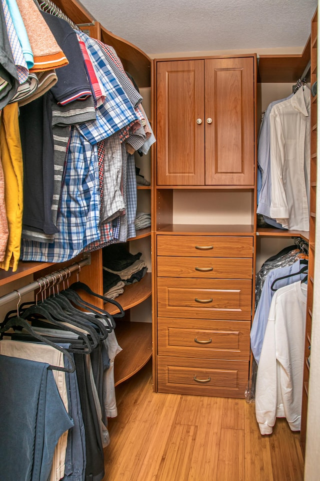
{"label": "curved wooden corner shelf holding folded dark and beige clothes", "polygon": [[[118,296],[115,300],[121,304],[124,311],[137,306],[151,296],[151,273],[147,272],[139,282],[134,282],[124,287],[124,293]],[[103,308],[108,313],[118,313],[117,307],[107,302]],[[134,323],[136,324],[136,323]]]}

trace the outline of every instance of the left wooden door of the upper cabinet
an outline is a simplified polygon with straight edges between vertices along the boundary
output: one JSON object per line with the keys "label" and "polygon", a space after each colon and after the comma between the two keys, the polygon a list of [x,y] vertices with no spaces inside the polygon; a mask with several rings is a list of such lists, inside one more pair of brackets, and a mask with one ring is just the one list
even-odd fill
{"label": "left wooden door of the upper cabinet", "polygon": [[203,71],[203,60],[157,64],[158,185],[204,184]]}

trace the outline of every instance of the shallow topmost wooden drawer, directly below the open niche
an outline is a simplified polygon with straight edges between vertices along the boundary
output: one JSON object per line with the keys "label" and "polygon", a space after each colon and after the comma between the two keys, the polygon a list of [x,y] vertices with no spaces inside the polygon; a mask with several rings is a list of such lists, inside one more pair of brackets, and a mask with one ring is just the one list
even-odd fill
{"label": "shallow topmost wooden drawer, directly below the open niche", "polygon": [[222,235],[157,235],[158,256],[249,257],[253,237]]}

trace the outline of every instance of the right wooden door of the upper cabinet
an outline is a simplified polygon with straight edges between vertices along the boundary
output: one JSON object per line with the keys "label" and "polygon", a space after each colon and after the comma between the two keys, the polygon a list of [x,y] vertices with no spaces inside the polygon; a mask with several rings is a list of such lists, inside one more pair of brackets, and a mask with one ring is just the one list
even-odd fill
{"label": "right wooden door of the upper cabinet", "polygon": [[253,185],[253,58],[207,59],[204,71],[205,184]]}

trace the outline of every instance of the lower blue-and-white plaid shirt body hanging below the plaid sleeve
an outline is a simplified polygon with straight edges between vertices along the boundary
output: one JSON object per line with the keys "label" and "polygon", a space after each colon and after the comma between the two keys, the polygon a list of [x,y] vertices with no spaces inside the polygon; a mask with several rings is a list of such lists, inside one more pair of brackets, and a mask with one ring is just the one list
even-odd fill
{"label": "lower blue-and-white plaid shirt body hanging below the plaid sleeve", "polygon": [[71,128],[53,243],[22,239],[23,261],[64,262],[97,240],[100,194],[97,147]]}

